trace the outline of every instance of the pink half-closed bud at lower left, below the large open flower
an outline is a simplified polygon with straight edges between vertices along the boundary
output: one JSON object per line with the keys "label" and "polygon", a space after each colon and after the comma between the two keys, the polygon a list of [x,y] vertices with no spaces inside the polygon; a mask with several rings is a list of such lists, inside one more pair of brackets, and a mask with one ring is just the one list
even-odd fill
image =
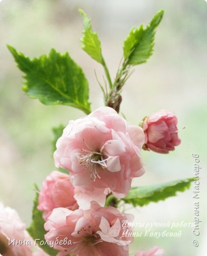
{"label": "pink half-closed bud at lower left, below the large open flower", "polygon": [[68,174],[53,171],[46,177],[43,188],[39,193],[38,209],[42,212],[44,220],[47,219],[56,207],[65,207],[76,210],[78,205],[74,199],[74,187]]}

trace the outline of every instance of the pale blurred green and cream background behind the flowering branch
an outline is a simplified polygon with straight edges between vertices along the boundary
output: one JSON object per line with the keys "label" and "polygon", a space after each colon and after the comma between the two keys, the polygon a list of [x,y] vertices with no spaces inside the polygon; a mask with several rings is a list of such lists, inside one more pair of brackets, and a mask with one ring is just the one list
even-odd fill
{"label": "pale blurred green and cream background behind the flowering branch", "polygon": [[[160,9],[165,15],[156,33],[154,54],[137,66],[123,90],[121,112],[130,123],[160,109],[178,117],[182,143],[169,155],[143,152],[146,174],[134,185],[150,185],[193,177],[192,153],[200,155],[202,170],[198,247],[192,244],[192,228],[177,228],[179,238],[136,238],[131,255],[154,245],[164,247],[167,256],[207,254],[206,148],[207,138],[207,3],[204,0],[3,0],[0,3],[0,201],[16,209],[29,225],[34,183],[39,187],[55,170],[52,158],[51,128],[84,114],[66,106],[44,106],[21,91],[21,71],[6,48],[14,46],[29,57],[47,54],[54,47],[68,51],[84,70],[90,84],[92,109],[103,105],[97,76],[103,69],[80,49],[82,18],[78,8],[92,18],[102,42],[102,50],[114,77],[122,57],[123,40],[133,26],[147,24]],[[193,222],[193,187],[164,202],[136,210],[135,222]],[[152,231],[165,229],[156,228]],[[138,230],[139,231],[139,230]],[[170,230],[168,230],[170,231]]]}

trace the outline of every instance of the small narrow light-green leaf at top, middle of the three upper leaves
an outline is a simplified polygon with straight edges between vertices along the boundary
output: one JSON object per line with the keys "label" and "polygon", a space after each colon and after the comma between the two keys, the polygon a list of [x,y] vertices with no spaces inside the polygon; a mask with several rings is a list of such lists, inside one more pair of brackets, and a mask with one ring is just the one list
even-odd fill
{"label": "small narrow light-green leaf at top, middle of the three upper leaves", "polygon": [[83,19],[84,19],[84,30],[82,31],[81,38],[81,48],[90,55],[94,60],[99,63],[103,63],[101,42],[98,38],[97,33],[92,29],[90,19],[87,17],[86,13],[82,10],[79,10]]}

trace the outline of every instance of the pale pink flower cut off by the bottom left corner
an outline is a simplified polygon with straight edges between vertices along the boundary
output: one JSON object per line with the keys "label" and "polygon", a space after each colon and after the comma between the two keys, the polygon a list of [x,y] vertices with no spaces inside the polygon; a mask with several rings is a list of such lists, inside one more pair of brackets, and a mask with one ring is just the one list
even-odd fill
{"label": "pale pink flower cut off by the bottom left corner", "polygon": [[34,247],[18,213],[0,204],[0,253],[4,256],[48,256],[38,247],[37,252],[33,252]]}

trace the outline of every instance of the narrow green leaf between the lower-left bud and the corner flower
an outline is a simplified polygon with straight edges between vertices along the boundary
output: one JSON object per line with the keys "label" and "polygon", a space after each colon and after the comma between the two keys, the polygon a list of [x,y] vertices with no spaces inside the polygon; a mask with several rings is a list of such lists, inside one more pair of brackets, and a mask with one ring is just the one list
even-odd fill
{"label": "narrow green leaf between the lower-left bud and the corner flower", "polygon": [[[35,190],[39,191],[38,187],[35,185]],[[29,228],[27,228],[27,231],[29,232],[30,236],[35,240],[37,240],[37,243],[39,244],[40,241],[45,241],[44,235],[46,234],[46,231],[44,229],[44,219],[43,219],[43,212],[39,211],[37,209],[38,206],[38,196],[39,193],[36,193],[36,197],[34,199],[34,207],[32,211],[32,222]],[[39,240],[40,239],[40,240]],[[39,245],[41,249],[43,249],[46,253],[48,253],[51,256],[55,256],[58,251],[54,250],[52,247],[49,247],[48,244]]]}

